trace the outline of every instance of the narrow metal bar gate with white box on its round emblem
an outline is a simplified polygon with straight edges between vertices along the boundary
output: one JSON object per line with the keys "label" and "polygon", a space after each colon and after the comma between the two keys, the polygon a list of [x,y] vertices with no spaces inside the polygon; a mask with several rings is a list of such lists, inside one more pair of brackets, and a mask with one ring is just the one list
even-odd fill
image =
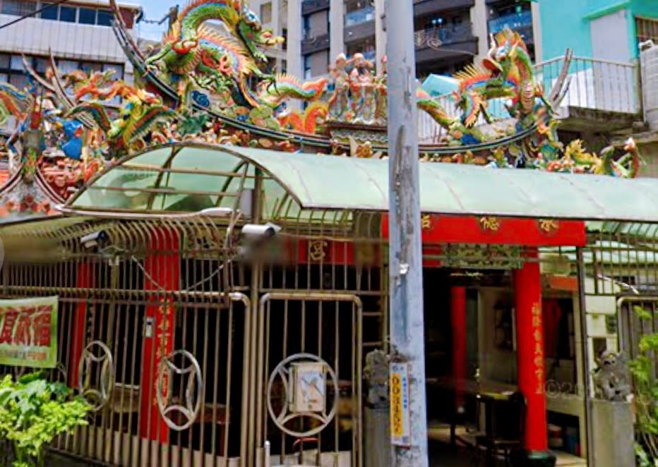
{"label": "narrow metal bar gate with white box on its round emblem", "polygon": [[[256,444],[272,446],[281,465],[360,466],[363,309],[359,298],[339,293],[280,292],[261,298]],[[331,369],[329,405],[316,416],[288,413],[294,389],[285,363],[315,356]],[[279,373],[280,374],[277,374]],[[297,454],[294,454],[297,452]],[[277,463],[275,463],[277,465]]]}

